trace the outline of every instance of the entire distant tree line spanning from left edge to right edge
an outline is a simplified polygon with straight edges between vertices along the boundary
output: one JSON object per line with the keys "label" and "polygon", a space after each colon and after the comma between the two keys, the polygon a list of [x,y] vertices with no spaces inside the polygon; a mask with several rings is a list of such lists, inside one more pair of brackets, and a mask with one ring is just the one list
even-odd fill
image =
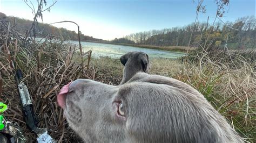
{"label": "entire distant tree line spanning from left edge to right edge", "polygon": [[[15,26],[17,31],[24,35],[32,25],[31,20],[6,17],[6,15],[1,12],[0,18],[6,18]],[[66,28],[57,28],[49,24],[38,23],[35,30],[36,32],[34,33],[39,33],[37,37],[44,37],[45,35],[52,34],[63,40],[78,40],[75,31],[70,31]],[[208,37],[210,32],[211,34]],[[197,23],[196,25],[189,24],[183,27],[132,33],[123,38],[115,38],[111,41],[93,38],[80,33],[80,39],[82,41],[153,46],[188,46],[188,43],[190,43],[190,46],[194,47],[207,41],[214,46],[223,46],[227,44],[231,48],[254,48],[256,45],[256,19],[254,16],[247,16],[238,18],[235,22],[228,22],[226,24],[221,22],[217,22],[214,25],[208,23]]]}

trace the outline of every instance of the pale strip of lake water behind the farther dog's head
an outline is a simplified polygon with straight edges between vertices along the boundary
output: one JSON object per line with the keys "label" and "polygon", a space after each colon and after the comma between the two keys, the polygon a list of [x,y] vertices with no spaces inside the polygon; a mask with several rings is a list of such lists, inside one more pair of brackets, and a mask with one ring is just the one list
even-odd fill
{"label": "pale strip of lake water behind the farther dog's head", "polygon": [[[73,44],[77,46],[78,41],[72,41]],[[83,47],[83,51],[87,52],[90,49],[92,50],[92,56],[94,58],[99,58],[99,56],[110,56],[111,58],[120,58],[120,56],[124,55],[127,52],[139,51],[147,53],[150,58],[170,58],[177,59],[180,56],[185,55],[185,53],[181,52],[169,52],[169,51],[161,51],[157,49],[147,49],[147,48],[139,48],[133,46],[123,46],[123,45],[112,45],[112,44],[102,44],[96,42],[81,42]]]}

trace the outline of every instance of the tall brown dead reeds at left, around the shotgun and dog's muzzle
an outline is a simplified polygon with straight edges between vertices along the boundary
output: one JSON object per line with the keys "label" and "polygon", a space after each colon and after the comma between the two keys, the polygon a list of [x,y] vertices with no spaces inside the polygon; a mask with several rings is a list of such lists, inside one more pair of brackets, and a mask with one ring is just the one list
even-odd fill
{"label": "tall brown dead reeds at left, around the shotgun and dog's muzzle", "polygon": [[75,57],[78,55],[75,54],[75,46],[64,44],[54,37],[45,37],[42,42],[28,39],[23,44],[23,35],[12,26],[0,19],[0,91],[1,101],[8,104],[8,110],[4,113],[6,120],[17,122],[28,141],[36,140],[36,135],[28,130],[23,119],[15,70],[10,64],[14,61],[16,67],[23,71],[23,80],[32,97],[38,126],[48,128],[51,137],[58,141],[79,141],[68,127],[63,110],[57,105],[56,95],[64,84],[77,78],[94,79],[95,72],[87,69],[87,62],[81,64],[81,60],[76,60],[81,56]]}

